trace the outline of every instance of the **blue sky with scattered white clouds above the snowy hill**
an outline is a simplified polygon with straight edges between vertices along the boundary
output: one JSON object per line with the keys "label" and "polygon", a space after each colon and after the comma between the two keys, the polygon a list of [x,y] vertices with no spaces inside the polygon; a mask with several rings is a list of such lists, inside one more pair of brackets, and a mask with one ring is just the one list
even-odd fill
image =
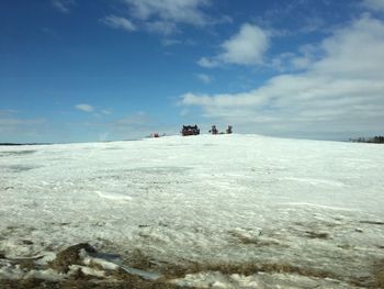
{"label": "blue sky with scattered white clouds above the snowy hill", "polygon": [[384,134],[384,0],[3,0],[0,142]]}

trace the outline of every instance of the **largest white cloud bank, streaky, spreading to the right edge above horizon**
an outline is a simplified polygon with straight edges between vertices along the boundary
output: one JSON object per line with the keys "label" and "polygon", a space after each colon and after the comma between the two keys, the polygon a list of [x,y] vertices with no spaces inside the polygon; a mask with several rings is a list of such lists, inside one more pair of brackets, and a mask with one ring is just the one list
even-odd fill
{"label": "largest white cloud bank, streaky, spreading to the right edge above horizon", "polygon": [[[244,93],[185,93],[204,116],[269,134],[380,133],[384,122],[384,22],[363,15],[319,44],[301,74],[271,78]],[[305,49],[304,49],[305,51]]]}

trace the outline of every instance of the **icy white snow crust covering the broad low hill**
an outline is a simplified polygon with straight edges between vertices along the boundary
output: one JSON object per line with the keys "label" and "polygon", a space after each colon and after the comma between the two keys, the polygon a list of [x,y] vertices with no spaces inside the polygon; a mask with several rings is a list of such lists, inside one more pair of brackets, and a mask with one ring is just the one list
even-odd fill
{"label": "icy white snow crust covering the broad low hill", "polygon": [[[352,288],[384,259],[383,164],[380,145],[258,135],[2,146],[0,253],[88,242],[125,264],[139,251],[159,274],[191,264],[331,274],[207,270],[172,280],[183,286]],[[0,278],[20,277],[0,262]]]}

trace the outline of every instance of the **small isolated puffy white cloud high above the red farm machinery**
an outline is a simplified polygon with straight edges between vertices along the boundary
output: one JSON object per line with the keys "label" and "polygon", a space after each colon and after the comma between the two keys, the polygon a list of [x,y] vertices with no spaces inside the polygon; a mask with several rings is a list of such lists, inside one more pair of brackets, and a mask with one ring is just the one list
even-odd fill
{"label": "small isolated puffy white cloud high above the red farm machinery", "polygon": [[203,67],[219,64],[261,65],[269,47],[269,34],[257,25],[245,23],[240,31],[221,47],[221,54],[211,58],[202,57],[197,64]]}

